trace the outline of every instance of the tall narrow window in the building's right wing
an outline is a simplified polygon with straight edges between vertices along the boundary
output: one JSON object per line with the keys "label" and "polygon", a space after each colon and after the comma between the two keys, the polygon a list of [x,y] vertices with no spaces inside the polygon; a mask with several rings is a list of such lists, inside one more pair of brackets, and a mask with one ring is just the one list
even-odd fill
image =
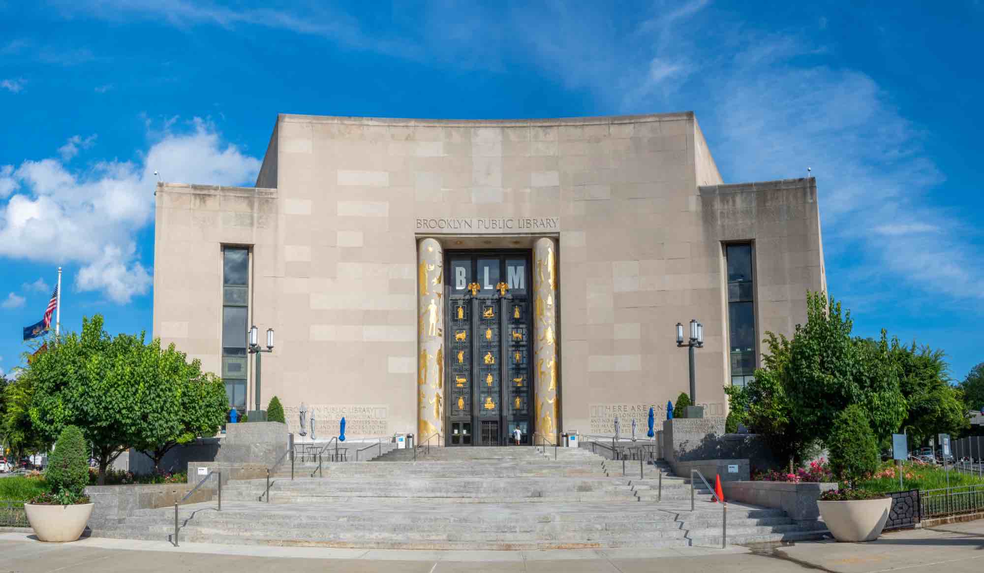
{"label": "tall narrow window in the building's right wing", "polygon": [[756,366],[755,284],[751,243],[725,246],[728,267],[728,341],[731,384],[745,386]]}

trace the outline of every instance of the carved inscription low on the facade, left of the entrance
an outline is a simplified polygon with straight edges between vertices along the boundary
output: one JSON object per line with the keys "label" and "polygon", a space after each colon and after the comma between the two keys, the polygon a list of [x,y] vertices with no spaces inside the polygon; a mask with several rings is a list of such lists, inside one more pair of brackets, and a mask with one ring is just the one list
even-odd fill
{"label": "carved inscription low on the facade, left of the entrance", "polygon": [[[297,406],[283,408],[287,419],[287,431],[300,439]],[[315,433],[318,439],[329,439],[338,435],[338,422],[345,416],[345,437],[385,436],[390,430],[390,407],[386,404],[313,404],[307,405],[307,427],[304,431],[311,437],[311,416],[314,415]]]}

